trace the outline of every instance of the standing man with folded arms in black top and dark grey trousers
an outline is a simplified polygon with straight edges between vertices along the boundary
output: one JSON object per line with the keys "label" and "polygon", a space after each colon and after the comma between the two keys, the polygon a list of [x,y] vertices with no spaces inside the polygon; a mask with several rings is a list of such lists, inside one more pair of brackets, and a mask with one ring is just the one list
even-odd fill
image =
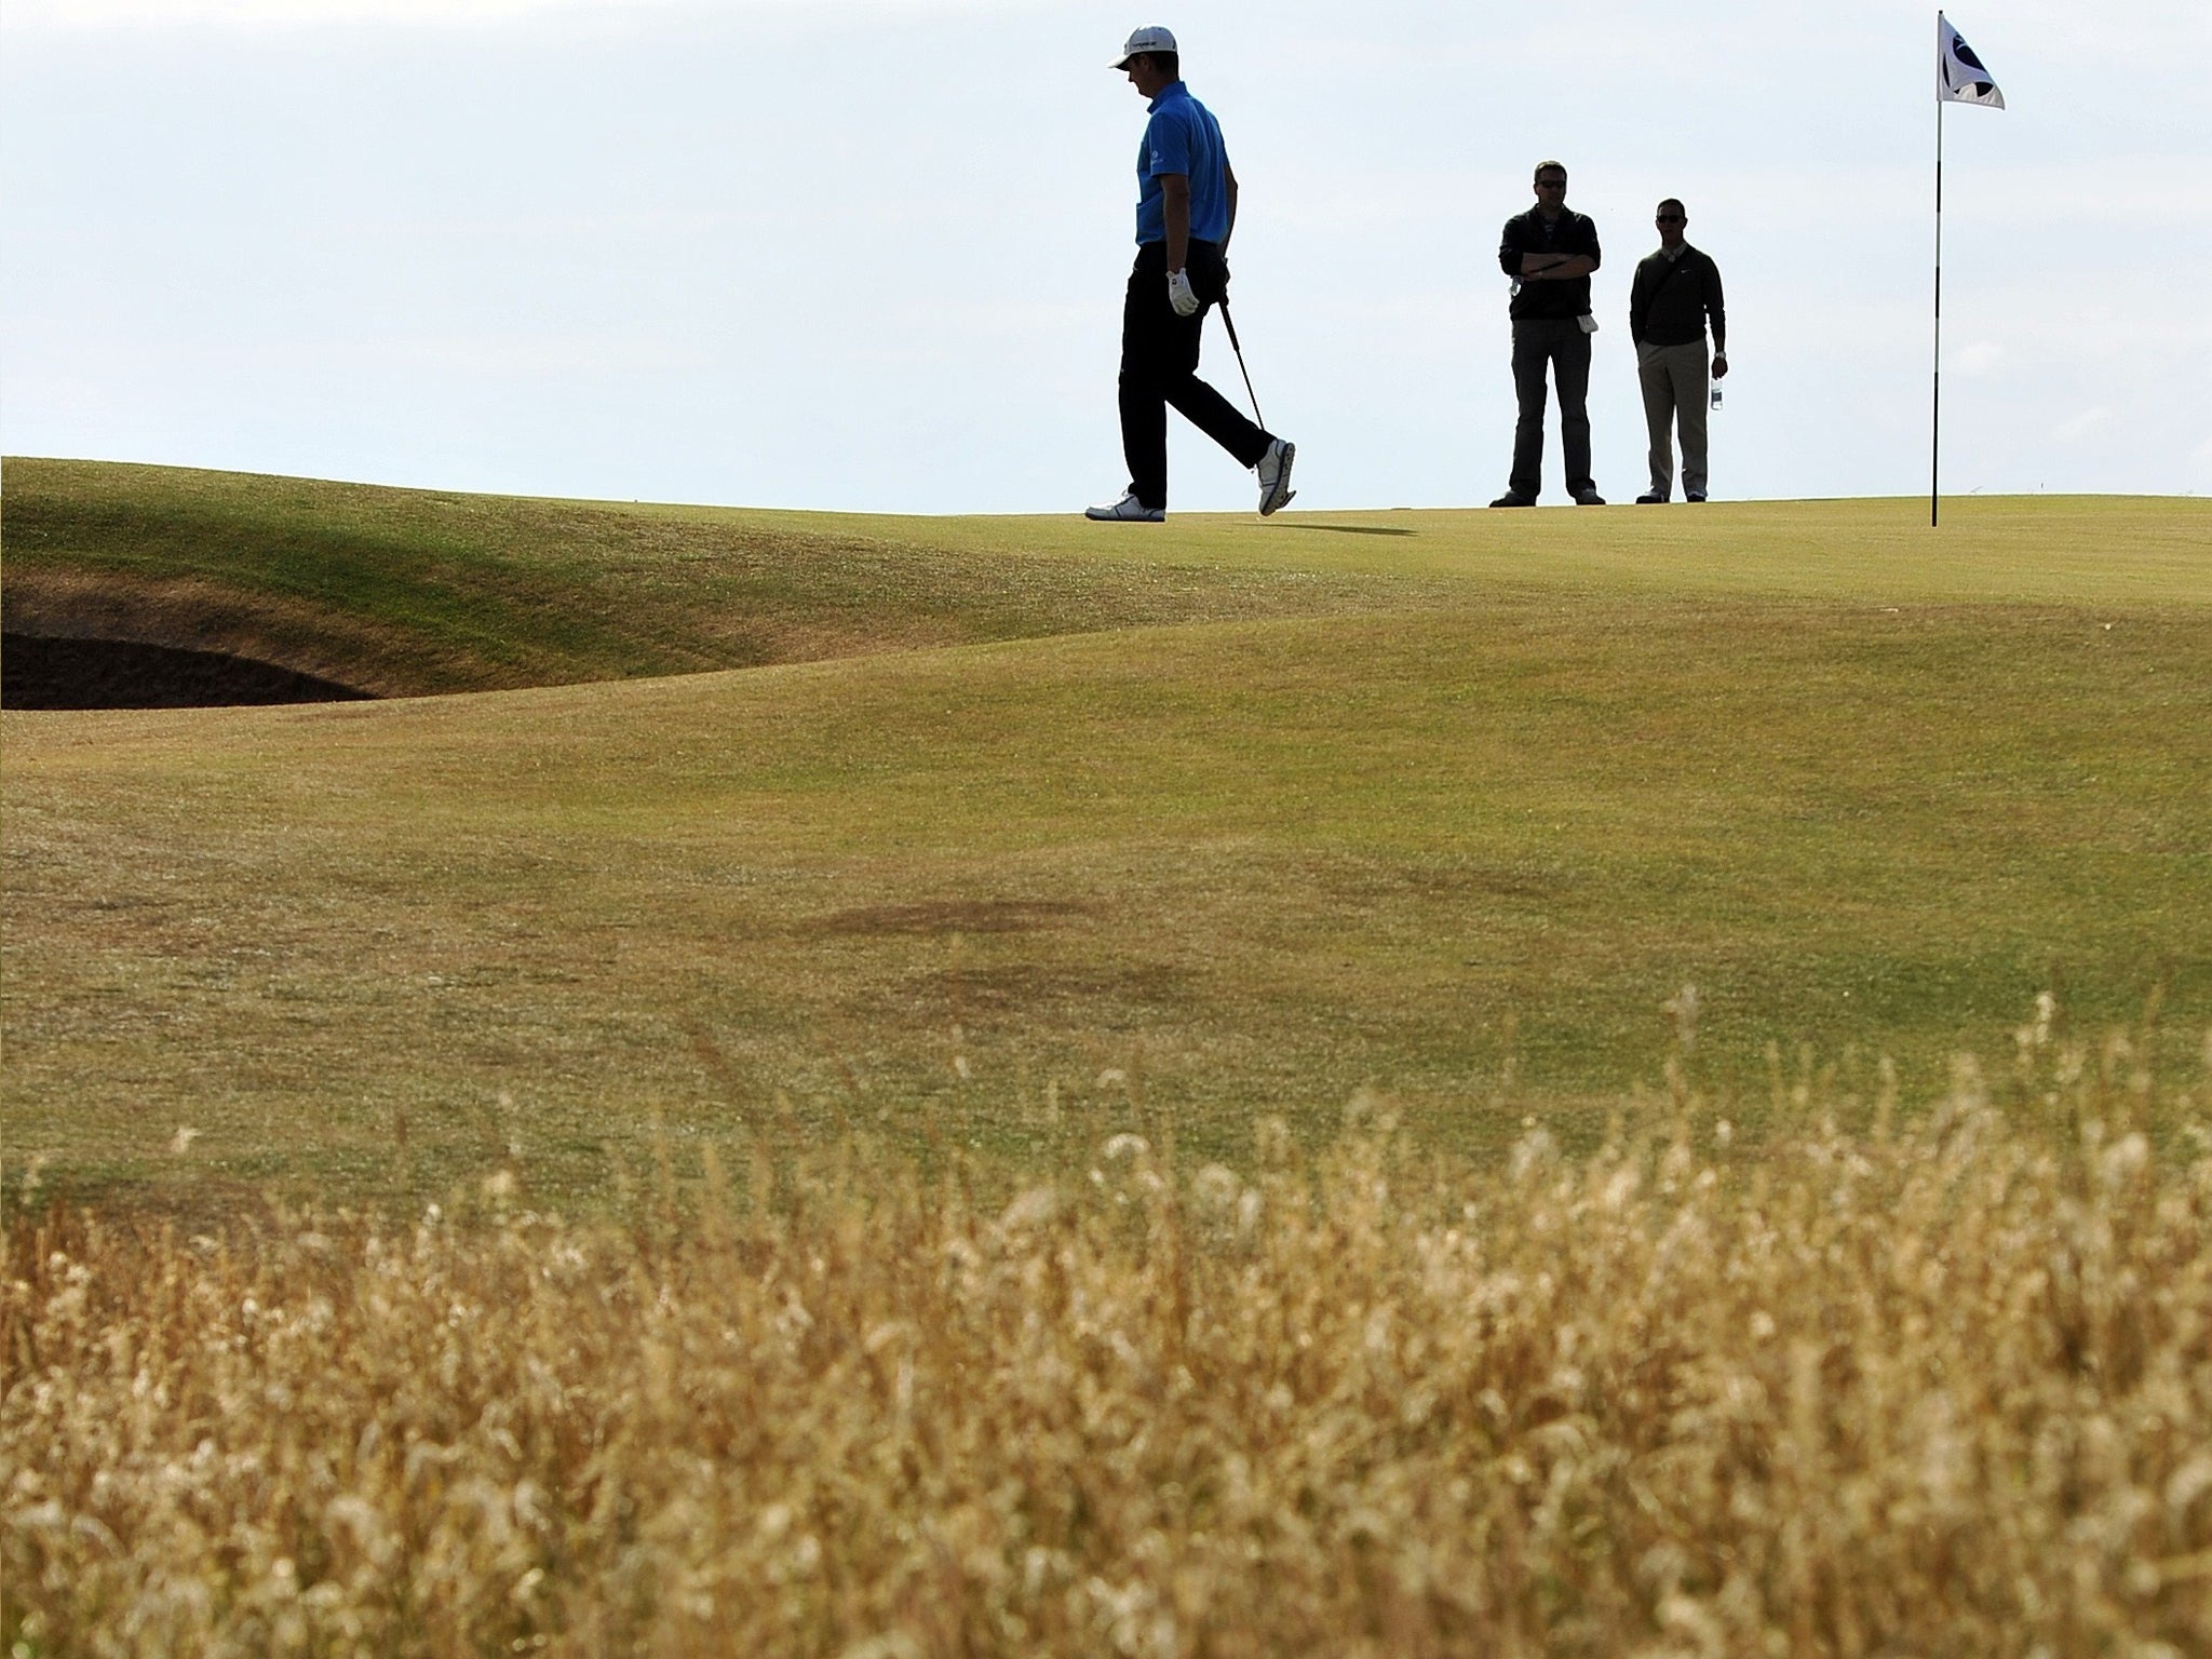
{"label": "standing man with folded arms in black top and dark grey trousers", "polygon": [[1566,493],[1579,507],[1604,507],[1590,480],[1590,272],[1597,270],[1597,223],[1566,206],[1566,168],[1540,161],[1535,206],[1506,219],[1498,263],[1513,279],[1513,476],[1491,507],[1535,507],[1544,478],[1544,367],[1559,392],[1559,447]]}

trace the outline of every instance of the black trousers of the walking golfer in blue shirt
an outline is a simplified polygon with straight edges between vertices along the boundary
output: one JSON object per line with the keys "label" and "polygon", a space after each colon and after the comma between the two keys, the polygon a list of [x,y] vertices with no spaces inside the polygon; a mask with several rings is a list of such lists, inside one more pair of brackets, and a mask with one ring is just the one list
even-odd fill
{"label": "black trousers of the walking golfer in blue shirt", "polygon": [[1168,303],[1168,246],[1159,241],[1137,248],[1121,303],[1121,456],[1130,495],[1159,509],[1168,507],[1170,405],[1241,467],[1256,467],[1274,442],[1199,378],[1199,330],[1228,290],[1221,248],[1192,241],[1186,270],[1201,301],[1190,316],[1177,316]]}

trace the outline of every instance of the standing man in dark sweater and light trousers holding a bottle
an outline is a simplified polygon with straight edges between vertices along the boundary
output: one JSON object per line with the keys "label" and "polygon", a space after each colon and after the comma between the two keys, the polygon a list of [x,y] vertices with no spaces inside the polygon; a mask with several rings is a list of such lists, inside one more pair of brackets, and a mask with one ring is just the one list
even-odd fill
{"label": "standing man in dark sweater and light trousers holding a bottle", "polygon": [[[1652,487],[1639,502],[1674,493],[1674,427],[1681,429],[1681,493],[1705,500],[1705,378],[1728,374],[1728,307],[1721,268],[1688,241],[1688,210],[1674,197],[1659,204],[1659,250],[1637,263],[1628,285],[1628,338],[1637,345],[1644,422],[1652,436]],[[1705,327],[1712,327],[1712,363]]]}

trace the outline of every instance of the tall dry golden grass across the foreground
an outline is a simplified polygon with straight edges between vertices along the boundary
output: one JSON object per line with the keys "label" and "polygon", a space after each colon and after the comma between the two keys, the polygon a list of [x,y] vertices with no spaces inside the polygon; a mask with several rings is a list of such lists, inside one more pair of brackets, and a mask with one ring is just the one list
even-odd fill
{"label": "tall dry golden grass across the foreground", "polygon": [[0,1641],[2205,1652],[2212,1141],[2075,1073],[1756,1152],[1119,1135],[1004,1206],[847,1146],[635,1225],[55,1210]]}

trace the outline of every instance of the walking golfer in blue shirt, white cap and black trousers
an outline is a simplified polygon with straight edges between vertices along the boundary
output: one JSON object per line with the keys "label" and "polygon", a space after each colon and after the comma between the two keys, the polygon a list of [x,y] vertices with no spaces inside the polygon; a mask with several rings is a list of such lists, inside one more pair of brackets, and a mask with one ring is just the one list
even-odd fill
{"label": "walking golfer in blue shirt, white cap and black trousers", "polygon": [[1261,431],[1199,378],[1199,327],[1223,301],[1237,175],[1212,111],[1183,86],[1166,29],[1139,29],[1113,62],[1152,113],[1137,148],[1137,268],[1121,305],[1121,500],[1086,518],[1157,524],[1168,515],[1168,405],[1259,473],[1259,511],[1290,498],[1294,445]]}

